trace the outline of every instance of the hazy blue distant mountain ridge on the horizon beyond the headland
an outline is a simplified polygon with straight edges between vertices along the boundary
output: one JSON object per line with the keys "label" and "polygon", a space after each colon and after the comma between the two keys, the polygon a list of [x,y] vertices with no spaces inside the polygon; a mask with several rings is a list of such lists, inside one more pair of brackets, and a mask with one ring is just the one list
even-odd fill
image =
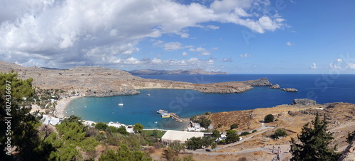
{"label": "hazy blue distant mountain ridge on the horizon beyond the headland", "polygon": [[131,70],[127,71],[133,75],[149,75],[149,74],[228,74],[226,72],[207,72],[200,68],[192,70]]}

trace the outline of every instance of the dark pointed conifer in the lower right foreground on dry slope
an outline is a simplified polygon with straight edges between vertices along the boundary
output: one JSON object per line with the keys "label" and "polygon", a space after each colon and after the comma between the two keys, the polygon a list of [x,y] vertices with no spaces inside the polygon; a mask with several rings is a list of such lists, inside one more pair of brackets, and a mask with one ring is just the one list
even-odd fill
{"label": "dark pointed conifer in the lower right foreground on dry slope", "polygon": [[326,117],[320,121],[320,116],[317,113],[315,121],[306,123],[302,128],[301,135],[297,138],[301,143],[296,143],[294,138],[291,138],[291,153],[292,161],[308,161],[308,160],[337,160],[339,153],[334,152],[334,148],[329,148],[334,137],[332,133],[327,132]]}

